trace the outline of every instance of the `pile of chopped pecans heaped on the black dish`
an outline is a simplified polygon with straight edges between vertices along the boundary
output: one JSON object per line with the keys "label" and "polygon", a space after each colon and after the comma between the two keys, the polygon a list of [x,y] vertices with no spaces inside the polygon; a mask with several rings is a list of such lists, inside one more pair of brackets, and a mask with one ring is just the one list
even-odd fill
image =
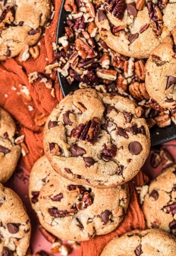
{"label": "pile of chopped pecans heaped on the black dish", "polygon": [[95,88],[99,92],[123,94],[143,109],[149,128],[176,123],[176,114],[163,109],[150,99],[145,89],[146,60],[123,56],[109,49],[99,37],[95,26],[95,9],[99,0],[66,0],[68,13],[65,34],[53,43],[55,60],[45,68],[46,74],[59,71],[68,86],[76,81],[80,88]]}

